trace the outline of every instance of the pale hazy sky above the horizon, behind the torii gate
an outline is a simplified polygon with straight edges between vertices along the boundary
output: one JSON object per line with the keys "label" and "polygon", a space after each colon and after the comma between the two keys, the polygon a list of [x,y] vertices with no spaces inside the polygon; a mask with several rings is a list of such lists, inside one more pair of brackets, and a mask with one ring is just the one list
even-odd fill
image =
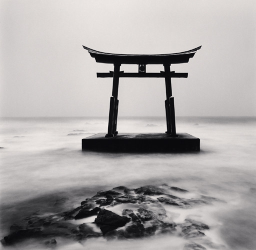
{"label": "pale hazy sky above the horizon, behind the torii gate", "polygon": [[[171,53],[176,115],[256,115],[255,0],[1,0],[1,116],[107,116],[112,78],[82,45]],[[158,72],[163,66],[147,66]],[[121,65],[137,71],[137,66]],[[164,115],[163,78],[120,78],[119,113]]]}

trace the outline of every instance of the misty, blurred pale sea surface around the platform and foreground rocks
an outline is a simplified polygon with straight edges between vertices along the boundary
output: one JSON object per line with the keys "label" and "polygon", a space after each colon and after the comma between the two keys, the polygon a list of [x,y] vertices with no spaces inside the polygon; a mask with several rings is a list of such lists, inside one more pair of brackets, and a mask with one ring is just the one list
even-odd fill
{"label": "misty, blurred pale sea surface around the platform and foreground rocks", "polygon": [[[9,226],[35,211],[53,212],[64,197],[77,207],[99,190],[125,185],[177,186],[223,202],[174,209],[173,221],[188,216],[209,225],[200,243],[207,249],[256,249],[256,118],[176,117],[177,132],[200,138],[190,153],[100,153],[81,151],[81,139],[106,132],[106,117],[0,119],[0,238]],[[119,132],[164,132],[164,117],[119,117]],[[56,249],[182,249],[169,235],[84,244],[60,241]],[[26,242],[6,249],[41,249]]]}

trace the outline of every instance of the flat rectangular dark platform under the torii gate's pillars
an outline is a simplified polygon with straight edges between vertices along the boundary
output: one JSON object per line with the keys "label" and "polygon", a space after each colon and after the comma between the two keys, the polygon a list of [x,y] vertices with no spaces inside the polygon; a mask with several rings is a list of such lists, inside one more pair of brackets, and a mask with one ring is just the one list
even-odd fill
{"label": "flat rectangular dark platform under the torii gate's pillars", "polygon": [[199,151],[200,139],[188,133],[118,133],[105,137],[97,133],[82,139],[82,150],[108,152],[173,152]]}

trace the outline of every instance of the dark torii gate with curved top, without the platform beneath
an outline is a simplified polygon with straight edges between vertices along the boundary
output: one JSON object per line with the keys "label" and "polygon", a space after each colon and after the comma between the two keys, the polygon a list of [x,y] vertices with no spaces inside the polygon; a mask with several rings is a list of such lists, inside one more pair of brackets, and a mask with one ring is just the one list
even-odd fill
{"label": "dark torii gate with curved top, without the platform beneath", "polygon": [[[114,137],[118,132],[117,113],[118,113],[118,84],[120,77],[162,77],[165,79],[166,100],[165,100],[165,114],[166,114],[166,133],[169,136],[176,136],[175,126],[175,112],[174,112],[174,98],[171,91],[171,77],[187,77],[187,73],[176,73],[170,71],[170,65],[176,63],[188,62],[189,58],[193,57],[195,52],[201,46],[191,50],[171,53],[171,54],[114,54],[100,52],[83,46],[88,50],[90,55],[95,58],[96,62],[111,63],[114,65],[114,71],[107,73],[97,73],[97,77],[113,77],[112,96],[110,97],[108,130],[105,137]],[[138,72],[124,72],[120,71],[121,64],[137,64]],[[164,71],[157,73],[146,73],[147,64],[162,64]]]}

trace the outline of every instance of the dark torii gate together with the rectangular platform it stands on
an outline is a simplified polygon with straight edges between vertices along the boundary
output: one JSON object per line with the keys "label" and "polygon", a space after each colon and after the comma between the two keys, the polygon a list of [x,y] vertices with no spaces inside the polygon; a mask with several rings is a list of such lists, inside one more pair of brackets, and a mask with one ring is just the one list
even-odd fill
{"label": "dark torii gate together with the rectangular platform it stands on", "polygon": [[[83,46],[96,62],[111,63],[113,71],[98,72],[97,77],[112,77],[112,96],[110,97],[108,129],[105,135],[99,133],[82,139],[82,149],[100,151],[186,151],[199,150],[200,140],[187,133],[176,133],[174,98],[171,90],[171,78],[184,77],[187,73],[170,71],[170,65],[186,63],[201,46],[169,54],[115,54],[100,52]],[[120,71],[121,64],[137,64],[138,72]],[[164,71],[146,72],[147,64],[162,64]],[[118,85],[120,77],[161,77],[165,80],[166,100],[165,133],[118,133]]]}

